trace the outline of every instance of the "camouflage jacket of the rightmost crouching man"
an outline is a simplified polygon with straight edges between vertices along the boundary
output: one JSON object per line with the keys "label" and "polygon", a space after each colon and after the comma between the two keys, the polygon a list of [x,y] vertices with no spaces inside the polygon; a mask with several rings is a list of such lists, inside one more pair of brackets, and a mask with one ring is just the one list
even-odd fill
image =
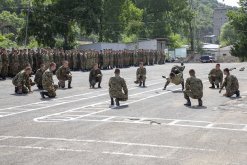
{"label": "camouflage jacket of the rightmost crouching man", "polygon": [[234,75],[228,75],[225,77],[224,82],[221,86],[221,89],[226,87],[226,92],[231,93],[232,91],[235,92],[239,89],[238,79]]}

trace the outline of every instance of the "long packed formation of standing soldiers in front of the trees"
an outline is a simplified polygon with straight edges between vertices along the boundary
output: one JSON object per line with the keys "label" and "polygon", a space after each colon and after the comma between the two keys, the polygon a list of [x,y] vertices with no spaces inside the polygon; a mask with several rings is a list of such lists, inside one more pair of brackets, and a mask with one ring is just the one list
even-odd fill
{"label": "long packed formation of standing soldiers in front of the trees", "polygon": [[154,50],[63,50],[63,49],[12,49],[0,48],[0,73],[2,79],[7,76],[14,77],[17,73],[30,65],[32,71],[40,68],[45,69],[54,62],[59,68],[63,61],[68,61],[68,67],[72,71],[90,71],[95,63],[100,69],[127,68],[138,66],[140,62],[144,65],[164,64],[165,54]]}

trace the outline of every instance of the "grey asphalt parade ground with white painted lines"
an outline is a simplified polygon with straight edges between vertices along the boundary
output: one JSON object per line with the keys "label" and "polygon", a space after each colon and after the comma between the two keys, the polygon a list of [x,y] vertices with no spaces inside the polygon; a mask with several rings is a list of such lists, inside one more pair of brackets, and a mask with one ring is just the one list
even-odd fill
{"label": "grey asphalt parade ground with white painted lines", "polygon": [[[11,80],[0,81],[0,165],[245,165],[247,164],[246,63],[237,69],[241,98],[209,89],[215,64],[185,64],[204,83],[204,106],[185,107],[181,86],[162,90],[174,64],[147,66],[146,88],[135,81],[135,67],[121,69],[129,100],[109,108],[108,80],[89,89],[88,72],[73,72],[72,89],[57,98],[14,94]],[[57,82],[54,76],[55,82]]]}

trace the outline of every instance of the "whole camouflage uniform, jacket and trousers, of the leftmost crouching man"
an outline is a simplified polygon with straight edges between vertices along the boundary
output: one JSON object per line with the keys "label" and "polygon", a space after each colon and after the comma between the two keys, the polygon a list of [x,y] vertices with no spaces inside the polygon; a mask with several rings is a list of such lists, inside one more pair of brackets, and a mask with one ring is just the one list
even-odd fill
{"label": "whole camouflage uniform, jacket and trousers, of the leftmost crouching man", "polygon": [[12,80],[13,85],[17,88],[15,91],[21,91],[24,94],[27,94],[28,91],[31,91],[31,84],[29,80],[29,75],[26,74],[25,70],[19,72]]}

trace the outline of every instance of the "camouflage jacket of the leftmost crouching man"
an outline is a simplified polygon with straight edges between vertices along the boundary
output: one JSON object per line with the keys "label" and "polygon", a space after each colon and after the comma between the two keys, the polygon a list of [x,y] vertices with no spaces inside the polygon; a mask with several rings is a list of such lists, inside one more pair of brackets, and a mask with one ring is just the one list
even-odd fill
{"label": "camouflage jacket of the leftmost crouching man", "polygon": [[30,77],[25,73],[25,70],[20,71],[12,80],[15,86],[30,87]]}

